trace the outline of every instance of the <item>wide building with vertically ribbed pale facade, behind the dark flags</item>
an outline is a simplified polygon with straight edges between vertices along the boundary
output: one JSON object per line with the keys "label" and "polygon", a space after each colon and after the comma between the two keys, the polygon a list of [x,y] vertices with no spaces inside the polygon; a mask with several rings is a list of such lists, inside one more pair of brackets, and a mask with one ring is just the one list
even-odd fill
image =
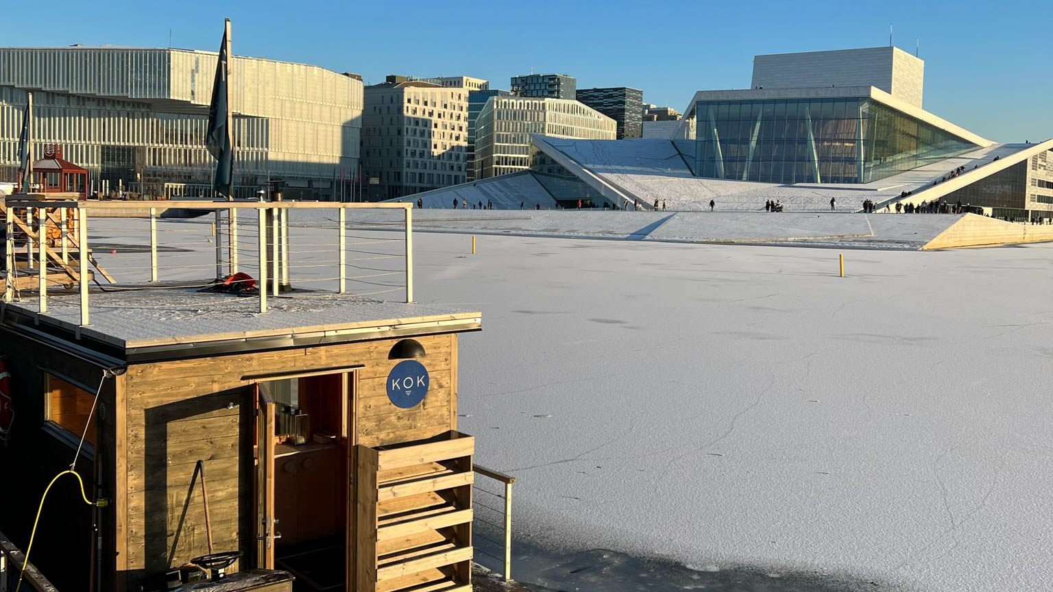
{"label": "wide building with vertically ribbed pale facade, behind the dark flags", "polygon": [[[212,195],[204,136],[217,54],[174,48],[0,48],[0,181],[14,180],[26,93],[34,152],[59,144],[95,191]],[[280,180],[286,198],[330,199],[358,167],[362,82],[322,67],[231,62],[234,193]]]}

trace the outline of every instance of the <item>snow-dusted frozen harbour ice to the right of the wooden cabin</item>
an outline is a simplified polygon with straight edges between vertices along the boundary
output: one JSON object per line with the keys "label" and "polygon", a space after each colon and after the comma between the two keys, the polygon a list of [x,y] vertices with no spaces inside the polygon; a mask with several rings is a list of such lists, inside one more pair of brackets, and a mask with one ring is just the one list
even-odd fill
{"label": "snow-dusted frozen harbour ice to the right of the wooden cabin", "polygon": [[1053,246],[852,252],[841,279],[829,250],[469,240],[417,238],[418,299],[483,312],[460,429],[533,545],[1049,588]]}

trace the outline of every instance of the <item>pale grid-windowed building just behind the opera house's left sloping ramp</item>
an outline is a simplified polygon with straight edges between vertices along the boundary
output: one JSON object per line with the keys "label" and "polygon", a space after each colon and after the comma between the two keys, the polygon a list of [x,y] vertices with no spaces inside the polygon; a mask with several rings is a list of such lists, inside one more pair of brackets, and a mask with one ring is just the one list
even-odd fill
{"label": "pale grid-windowed building just behind the opera house's left sloping ramp", "polygon": [[613,140],[617,123],[578,101],[491,97],[476,119],[475,178],[530,169],[531,134]]}

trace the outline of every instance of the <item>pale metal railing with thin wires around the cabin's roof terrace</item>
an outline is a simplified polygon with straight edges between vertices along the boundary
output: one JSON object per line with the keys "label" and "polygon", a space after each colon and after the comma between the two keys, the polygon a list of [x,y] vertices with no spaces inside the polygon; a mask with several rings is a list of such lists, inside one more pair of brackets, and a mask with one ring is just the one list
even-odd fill
{"label": "pale metal railing with thin wires around the cabin's roof terrace", "polygon": [[[15,194],[5,200],[3,296],[23,299],[25,290],[46,313],[49,289],[68,293],[76,287],[81,325],[91,323],[93,281],[103,292],[181,289],[188,295],[247,273],[250,279],[234,281],[252,282],[260,313],[267,312],[269,299],[294,287],[296,296],[404,292],[406,302],[414,299],[410,203],[51,197]],[[183,217],[167,217],[166,211]]]}

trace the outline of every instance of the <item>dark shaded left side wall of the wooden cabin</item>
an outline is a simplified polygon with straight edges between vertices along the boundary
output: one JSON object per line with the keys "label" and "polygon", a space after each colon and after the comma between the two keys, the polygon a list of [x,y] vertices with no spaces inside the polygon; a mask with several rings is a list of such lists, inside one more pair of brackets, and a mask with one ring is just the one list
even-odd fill
{"label": "dark shaded left side wall of the wooden cabin", "polygon": [[[11,373],[11,396],[15,419],[6,443],[0,442],[0,531],[22,551],[29,542],[33,520],[47,484],[69,468],[80,434],[62,434],[55,426],[45,426],[47,382],[51,373],[95,393],[102,378],[99,366],[71,356],[61,350],[19,335],[0,332],[0,357]],[[117,406],[115,393],[121,378],[107,378],[101,389],[97,409],[97,446],[82,451],[77,473],[84,482],[88,499],[113,498],[115,492],[114,442]],[[94,449],[94,451],[92,450]],[[96,477],[98,461],[98,477]],[[98,491],[96,488],[98,487]],[[64,475],[47,494],[29,560],[59,590],[90,590],[92,514],[95,509],[81,496],[80,486],[72,475]],[[101,586],[114,589],[115,513],[114,506],[99,511],[103,538]]]}

